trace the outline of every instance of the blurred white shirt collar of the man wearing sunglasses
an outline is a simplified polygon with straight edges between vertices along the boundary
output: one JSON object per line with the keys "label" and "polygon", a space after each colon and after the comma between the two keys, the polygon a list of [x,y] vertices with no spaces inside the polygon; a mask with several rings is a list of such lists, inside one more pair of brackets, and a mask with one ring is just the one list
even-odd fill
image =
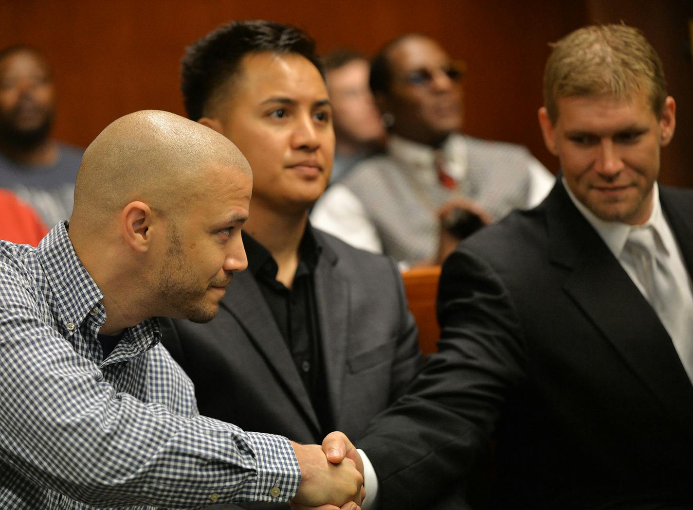
{"label": "blurred white shirt collar of the man wearing sunglasses", "polygon": [[[430,145],[413,142],[391,134],[387,138],[387,150],[393,158],[412,170],[435,169],[436,149]],[[446,163],[446,172],[459,181],[467,172],[467,145],[464,136],[452,133],[441,147]]]}

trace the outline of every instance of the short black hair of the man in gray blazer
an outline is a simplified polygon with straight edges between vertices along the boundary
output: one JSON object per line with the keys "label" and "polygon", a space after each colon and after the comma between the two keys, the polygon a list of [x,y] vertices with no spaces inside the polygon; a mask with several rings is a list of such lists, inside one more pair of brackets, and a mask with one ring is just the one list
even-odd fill
{"label": "short black hair of the man in gray blazer", "polygon": [[249,53],[297,53],[322,75],[315,40],[303,30],[273,21],[231,21],[186,48],[181,85],[188,117],[199,120],[216,103]]}

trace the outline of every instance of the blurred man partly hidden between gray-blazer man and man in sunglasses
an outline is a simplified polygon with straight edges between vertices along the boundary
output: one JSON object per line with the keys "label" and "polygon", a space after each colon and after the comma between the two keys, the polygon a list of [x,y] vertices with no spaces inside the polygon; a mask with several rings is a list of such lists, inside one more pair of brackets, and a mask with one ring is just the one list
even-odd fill
{"label": "blurred man partly hidden between gray-blazer man and man in sunglasses", "polygon": [[349,171],[378,149],[385,128],[368,85],[371,65],[354,51],[337,50],[324,57],[325,82],[335,128],[335,158],[330,181]]}

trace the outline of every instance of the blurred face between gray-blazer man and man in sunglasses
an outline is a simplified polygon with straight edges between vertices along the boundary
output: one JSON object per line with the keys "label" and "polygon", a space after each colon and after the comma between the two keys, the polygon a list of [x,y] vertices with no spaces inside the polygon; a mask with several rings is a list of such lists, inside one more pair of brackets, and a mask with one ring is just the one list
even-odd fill
{"label": "blurred face between gray-blazer man and man in sunglasses", "polygon": [[337,149],[340,142],[368,147],[385,136],[380,112],[368,86],[369,64],[356,59],[326,73]]}

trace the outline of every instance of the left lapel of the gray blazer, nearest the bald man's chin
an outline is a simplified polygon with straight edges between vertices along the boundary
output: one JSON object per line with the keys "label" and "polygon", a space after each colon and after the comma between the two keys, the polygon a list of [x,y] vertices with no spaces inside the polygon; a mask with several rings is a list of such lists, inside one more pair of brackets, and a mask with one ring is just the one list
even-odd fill
{"label": "left lapel of the gray blazer, nearest the bald man's chin", "polygon": [[267,360],[287,392],[305,413],[316,431],[320,426],[310,403],[306,387],[293,363],[291,353],[281,336],[262,291],[250,271],[236,273],[220,306],[227,309],[245,330],[250,342]]}

